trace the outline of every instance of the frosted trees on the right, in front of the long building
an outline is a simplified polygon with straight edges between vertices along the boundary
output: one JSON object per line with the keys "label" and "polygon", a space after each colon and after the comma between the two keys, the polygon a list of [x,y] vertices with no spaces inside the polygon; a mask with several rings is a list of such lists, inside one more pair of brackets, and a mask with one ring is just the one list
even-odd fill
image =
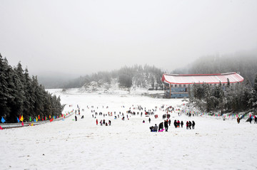
{"label": "frosted trees on the right, in front of the long building", "polygon": [[202,111],[256,112],[257,109],[257,75],[253,87],[248,79],[243,83],[225,86],[210,86],[206,83],[193,84],[189,90],[190,102]]}

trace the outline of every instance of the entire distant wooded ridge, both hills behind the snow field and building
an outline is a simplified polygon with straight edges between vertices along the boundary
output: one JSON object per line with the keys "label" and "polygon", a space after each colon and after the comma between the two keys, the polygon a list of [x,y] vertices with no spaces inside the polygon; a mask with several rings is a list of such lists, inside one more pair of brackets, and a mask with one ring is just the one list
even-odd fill
{"label": "entire distant wooded ridge, both hills behind the snow field and building", "polygon": [[[245,80],[249,80],[253,86],[257,73],[257,50],[251,53],[237,53],[233,55],[207,55],[198,58],[190,65],[181,65],[181,68],[173,70],[173,74],[215,74],[237,72]],[[100,90],[163,90],[161,76],[165,73],[160,68],[149,65],[134,65],[123,67],[119,70],[109,72],[99,72],[91,75],[81,76],[69,83],[54,81],[55,85],[43,83],[39,77],[39,83],[43,83],[47,88],[81,88],[85,91],[93,92]],[[57,85],[57,82],[59,85]],[[53,83],[51,83],[53,84]]]}

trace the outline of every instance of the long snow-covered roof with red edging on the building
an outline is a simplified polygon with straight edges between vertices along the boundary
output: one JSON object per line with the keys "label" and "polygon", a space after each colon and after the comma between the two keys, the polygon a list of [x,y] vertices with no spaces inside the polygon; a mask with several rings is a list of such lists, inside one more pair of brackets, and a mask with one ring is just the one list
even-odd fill
{"label": "long snow-covered roof with red edging on the building", "polygon": [[236,72],[221,74],[201,74],[201,75],[176,75],[163,74],[161,81],[171,84],[193,84],[193,83],[238,83],[243,82],[243,77]]}

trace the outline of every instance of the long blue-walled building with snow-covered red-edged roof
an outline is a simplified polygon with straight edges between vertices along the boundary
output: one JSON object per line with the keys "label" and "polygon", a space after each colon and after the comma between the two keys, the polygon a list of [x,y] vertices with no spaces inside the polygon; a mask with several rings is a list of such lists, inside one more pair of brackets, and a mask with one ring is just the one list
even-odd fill
{"label": "long blue-walled building with snow-covered red-edged roof", "polygon": [[200,75],[177,75],[177,74],[163,74],[161,81],[165,86],[166,97],[181,98],[188,97],[189,88],[193,84],[209,84],[218,85],[221,83],[223,90],[228,83],[243,82],[243,77],[236,72],[221,73],[221,74],[200,74]]}

